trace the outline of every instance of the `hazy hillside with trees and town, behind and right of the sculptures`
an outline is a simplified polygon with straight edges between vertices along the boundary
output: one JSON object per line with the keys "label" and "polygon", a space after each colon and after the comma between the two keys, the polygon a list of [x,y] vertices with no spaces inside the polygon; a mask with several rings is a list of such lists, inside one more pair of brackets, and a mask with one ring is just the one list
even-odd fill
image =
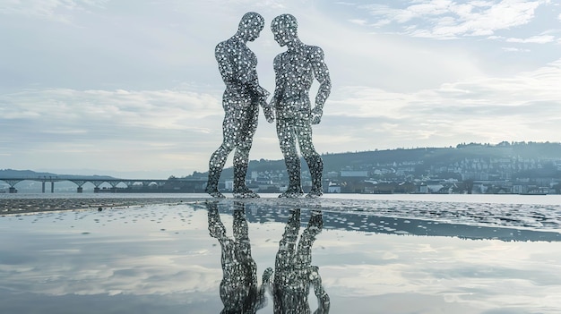
{"label": "hazy hillside with trees and town, behind and right of the sculptures", "polygon": [[[543,144],[544,147],[546,145],[549,150],[551,147],[554,150],[559,148],[559,144]],[[522,152],[520,148],[523,149]],[[470,144],[459,145],[454,149],[427,149],[428,153],[424,156],[433,157],[436,155],[435,152],[443,156],[449,153],[455,154],[453,157],[441,157],[437,160],[434,157],[407,160],[413,149],[402,149],[392,151],[394,155],[400,154],[401,157],[376,157],[376,152],[372,152],[371,162],[365,161],[367,158],[360,162],[353,162],[353,153],[348,153],[348,156],[343,158],[347,162],[341,164],[339,169],[331,168],[324,172],[324,192],[561,193],[561,155],[553,151],[552,154],[536,157],[527,152],[532,149],[537,150],[536,148],[542,149],[542,146],[536,147],[525,143],[511,146],[504,142],[496,146]],[[514,149],[518,149],[520,154],[514,154]],[[478,153],[474,153],[475,151]],[[500,154],[497,154],[497,151]],[[325,164],[328,165],[330,156],[324,156],[324,159],[327,160]],[[384,159],[385,162],[376,159]],[[304,186],[309,187],[311,179],[305,169],[303,168],[302,180]],[[223,188],[229,191],[232,187],[231,180],[226,179],[223,183]],[[247,184],[257,191],[283,191],[287,184],[286,172],[282,169],[253,171],[247,178]]]}

